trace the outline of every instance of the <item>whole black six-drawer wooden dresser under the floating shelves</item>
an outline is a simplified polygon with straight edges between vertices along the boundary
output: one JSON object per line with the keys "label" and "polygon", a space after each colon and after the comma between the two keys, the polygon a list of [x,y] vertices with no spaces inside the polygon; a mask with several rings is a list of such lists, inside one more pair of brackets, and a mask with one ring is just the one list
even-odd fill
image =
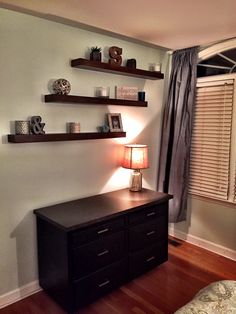
{"label": "whole black six-drawer wooden dresser under the floating shelves", "polygon": [[74,313],[165,262],[170,198],[122,189],[34,210],[40,286]]}

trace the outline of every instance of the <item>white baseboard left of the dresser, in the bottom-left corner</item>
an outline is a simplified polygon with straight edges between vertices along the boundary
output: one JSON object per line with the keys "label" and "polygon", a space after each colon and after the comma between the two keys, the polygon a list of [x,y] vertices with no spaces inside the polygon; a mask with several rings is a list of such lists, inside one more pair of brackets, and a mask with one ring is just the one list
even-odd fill
{"label": "white baseboard left of the dresser, in the bottom-left corner", "polygon": [[15,303],[19,300],[22,300],[31,294],[34,294],[42,290],[39,286],[38,280],[28,283],[16,290],[10,291],[6,294],[0,296],[0,309],[5,306],[8,306],[12,303]]}

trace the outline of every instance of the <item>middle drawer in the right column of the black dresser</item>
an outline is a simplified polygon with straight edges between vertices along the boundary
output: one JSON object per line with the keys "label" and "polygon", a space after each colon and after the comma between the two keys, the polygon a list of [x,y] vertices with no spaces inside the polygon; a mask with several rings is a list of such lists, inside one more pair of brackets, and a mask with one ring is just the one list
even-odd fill
{"label": "middle drawer in the right column of the black dresser", "polygon": [[160,238],[166,238],[168,233],[167,219],[167,216],[160,216],[151,222],[131,227],[129,230],[130,251],[145,248]]}

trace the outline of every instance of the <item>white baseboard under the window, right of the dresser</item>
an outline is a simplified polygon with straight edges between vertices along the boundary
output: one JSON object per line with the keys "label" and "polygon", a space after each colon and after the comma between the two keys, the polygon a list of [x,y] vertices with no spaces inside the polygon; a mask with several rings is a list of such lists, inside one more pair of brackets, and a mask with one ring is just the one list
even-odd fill
{"label": "white baseboard under the window, right of the dresser", "polygon": [[236,261],[236,251],[169,227],[169,235]]}

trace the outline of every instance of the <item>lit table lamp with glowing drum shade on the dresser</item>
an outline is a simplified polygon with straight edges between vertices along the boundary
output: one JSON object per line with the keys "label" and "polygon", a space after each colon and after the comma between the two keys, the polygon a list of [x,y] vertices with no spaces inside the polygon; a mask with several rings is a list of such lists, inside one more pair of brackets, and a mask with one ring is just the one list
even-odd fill
{"label": "lit table lamp with glowing drum shade on the dresser", "polygon": [[130,191],[141,191],[142,173],[140,172],[140,169],[148,168],[147,145],[125,145],[122,167],[134,170],[130,178]]}

